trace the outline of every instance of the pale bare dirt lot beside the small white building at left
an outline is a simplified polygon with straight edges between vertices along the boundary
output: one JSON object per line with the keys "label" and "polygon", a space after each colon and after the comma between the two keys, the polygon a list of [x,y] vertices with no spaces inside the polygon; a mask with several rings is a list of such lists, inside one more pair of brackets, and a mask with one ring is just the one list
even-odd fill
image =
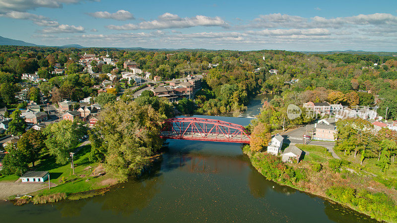
{"label": "pale bare dirt lot beside the small white building at left", "polygon": [[44,183],[0,182],[0,199],[7,199],[16,194],[29,194],[45,187],[48,187],[48,181]]}

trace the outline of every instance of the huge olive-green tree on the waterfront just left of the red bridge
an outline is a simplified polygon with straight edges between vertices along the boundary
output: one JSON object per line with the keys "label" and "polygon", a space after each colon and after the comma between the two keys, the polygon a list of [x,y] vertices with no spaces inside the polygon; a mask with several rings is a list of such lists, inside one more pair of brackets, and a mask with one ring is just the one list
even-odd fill
{"label": "huge olive-green tree on the waterfront just left of the red bridge", "polygon": [[[148,163],[148,157],[160,149],[162,119],[151,106],[139,106],[136,102],[118,101],[105,107],[96,125],[106,146],[106,169],[120,181],[129,175],[137,175]],[[103,143],[106,142],[106,143]]]}

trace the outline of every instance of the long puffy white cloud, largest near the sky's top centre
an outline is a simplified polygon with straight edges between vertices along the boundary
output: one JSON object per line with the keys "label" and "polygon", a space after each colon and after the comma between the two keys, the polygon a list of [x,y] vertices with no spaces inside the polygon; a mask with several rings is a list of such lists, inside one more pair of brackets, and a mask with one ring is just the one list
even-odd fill
{"label": "long puffy white cloud, largest near the sky's top centre", "polygon": [[220,17],[208,17],[203,15],[196,15],[191,18],[181,18],[178,15],[171,13],[164,13],[158,17],[157,20],[143,21],[138,24],[125,25],[109,25],[107,28],[114,30],[136,30],[136,29],[168,29],[168,28],[189,28],[195,26],[221,26],[228,27],[229,25]]}

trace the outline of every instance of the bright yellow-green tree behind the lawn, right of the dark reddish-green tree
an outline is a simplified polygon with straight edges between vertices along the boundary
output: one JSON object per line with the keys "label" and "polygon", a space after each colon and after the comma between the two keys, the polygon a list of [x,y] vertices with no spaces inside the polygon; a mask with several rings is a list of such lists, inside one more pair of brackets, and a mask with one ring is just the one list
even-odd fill
{"label": "bright yellow-green tree behind the lawn, right of the dark reddish-green tree", "polygon": [[58,164],[66,164],[69,153],[74,151],[85,132],[83,123],[75,119],[49,124],[43,133],[47,136],[45,144],[50,154],[56,157]]}

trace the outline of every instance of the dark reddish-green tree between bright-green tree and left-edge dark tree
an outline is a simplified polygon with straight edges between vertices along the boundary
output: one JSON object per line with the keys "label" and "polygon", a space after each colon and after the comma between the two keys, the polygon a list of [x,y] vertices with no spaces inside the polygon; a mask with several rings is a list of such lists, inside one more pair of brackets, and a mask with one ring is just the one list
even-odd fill
{"label": "dark reddish-green tree between bright-green tree and left-edge dark tree", "polygon": [[33,128],[23,133],[22,137],[18,140],[18,150],[25,156],[28,163],[32,163],[33,167],[45,148],[44,140],[41,131]]}

